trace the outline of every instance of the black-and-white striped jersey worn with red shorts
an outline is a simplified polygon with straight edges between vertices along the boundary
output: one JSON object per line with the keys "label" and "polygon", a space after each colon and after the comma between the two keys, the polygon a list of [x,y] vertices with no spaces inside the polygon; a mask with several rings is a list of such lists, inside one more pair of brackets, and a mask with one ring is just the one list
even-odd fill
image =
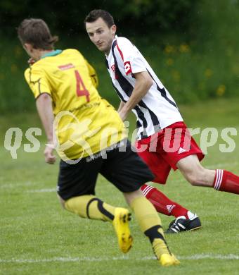
{"label": "black-and-white striped jersey worn with red shorts", "polygon": [[134,73],[148,71],[153,78],[150,90],[132,110],[137,118],[138,140],[183,121],[174,99],[129,39],[115,36],[110,53],[106,56],[106,65],[112,85],[122,102],[127,102],[134,90]]}

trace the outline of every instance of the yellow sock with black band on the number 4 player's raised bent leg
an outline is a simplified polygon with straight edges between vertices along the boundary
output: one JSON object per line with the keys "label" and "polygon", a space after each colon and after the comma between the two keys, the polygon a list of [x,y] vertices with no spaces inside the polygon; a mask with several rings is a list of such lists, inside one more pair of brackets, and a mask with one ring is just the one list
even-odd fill
{"label": "yellow sock with black band on the number 4 player's raised bent leg", "polygon": [[72,197],[65,202],[65,209],[82,218],[112,221],[114,219],[115,207],[102,202],[93,195]]}

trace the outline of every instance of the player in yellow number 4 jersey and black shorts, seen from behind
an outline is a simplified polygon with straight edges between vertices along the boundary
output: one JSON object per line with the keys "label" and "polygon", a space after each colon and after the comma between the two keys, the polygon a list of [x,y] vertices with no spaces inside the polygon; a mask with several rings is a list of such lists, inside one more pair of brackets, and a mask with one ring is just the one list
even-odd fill
{"label": "player in yellow number 4 jersey and black shorts, seen from behind", "polygon": [[96,178],[101,173],[123,193],[160,264],[179,264],[167,247],[153,204],[140,190],[153,174],[131,151],[117,111],[99,96],[93,68],[75,49],[55,50],[57,37],[51,36],[41,19],[23,20],[18,37],[34,60],[25,79],[48,139],[44,155],[49,164],[56,161],[53,145],[58,141],[58,196],[63,207],[82,218],[110,221],[120,249],[128,252],[132,244],[129,210],[95,196]]}

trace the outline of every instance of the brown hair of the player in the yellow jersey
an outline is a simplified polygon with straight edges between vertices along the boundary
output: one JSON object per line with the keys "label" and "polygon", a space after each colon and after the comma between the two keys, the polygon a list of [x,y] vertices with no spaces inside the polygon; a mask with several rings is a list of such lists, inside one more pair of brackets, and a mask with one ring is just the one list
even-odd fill
{"label": "brown hair of the player in the yellow jersey", "polygon": [[17,31],[20,42],[32,44],[34,49],[50,50],[58,41],[58,37],[51,35],[48,25],[42,19],[25,19],[20,23]]}

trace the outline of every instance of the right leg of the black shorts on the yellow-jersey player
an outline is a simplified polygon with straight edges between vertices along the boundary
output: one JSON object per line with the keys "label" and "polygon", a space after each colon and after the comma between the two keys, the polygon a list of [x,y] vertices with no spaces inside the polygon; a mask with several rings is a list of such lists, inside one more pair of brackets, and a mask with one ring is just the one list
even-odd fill
{"label": "right leg of the black shorts on the yellow-jersey player", "polygon": [[103,160],[101,174],[123,193],[133,192],[154,178],[153,173],[136,152],[131,150],[128,141],[122,150],[113,149]]}

